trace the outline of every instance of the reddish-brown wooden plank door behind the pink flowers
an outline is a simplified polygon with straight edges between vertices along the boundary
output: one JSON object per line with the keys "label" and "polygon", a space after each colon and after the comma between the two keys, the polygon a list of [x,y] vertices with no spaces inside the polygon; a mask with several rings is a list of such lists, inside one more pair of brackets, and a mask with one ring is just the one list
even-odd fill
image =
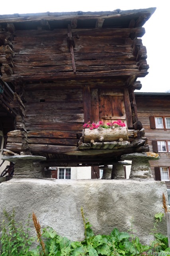
{"label": "reddish-brown wooden plank door behind the pink flowers", "polygon": [[123,90],[99,90],[99,119],[104,123],[117,119],[125,121],[125,102]]}

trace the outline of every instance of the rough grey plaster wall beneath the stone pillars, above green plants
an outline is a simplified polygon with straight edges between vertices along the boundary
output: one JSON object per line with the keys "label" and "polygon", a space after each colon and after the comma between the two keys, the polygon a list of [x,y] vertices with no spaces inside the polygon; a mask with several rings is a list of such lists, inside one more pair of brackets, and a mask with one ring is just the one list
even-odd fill
{"label": "rough grey plaster wall beneath the stone pillars, above green plants", "polygon": [[[0,214],[3,208],[16,210],[16,219],[24,222],[33,211],[41,226],[52,226],[70,240],[83,240],[80,208],[95,234],[109,234],[113,228],[133,228],[141,242],[149,243],[154,214],[163,212],[164,182],[133,180],[43,180],[12,179],[0,184]],[[166,234],[166,220],[160,225]],[[33,230],[35,234],[35,231]]]}

